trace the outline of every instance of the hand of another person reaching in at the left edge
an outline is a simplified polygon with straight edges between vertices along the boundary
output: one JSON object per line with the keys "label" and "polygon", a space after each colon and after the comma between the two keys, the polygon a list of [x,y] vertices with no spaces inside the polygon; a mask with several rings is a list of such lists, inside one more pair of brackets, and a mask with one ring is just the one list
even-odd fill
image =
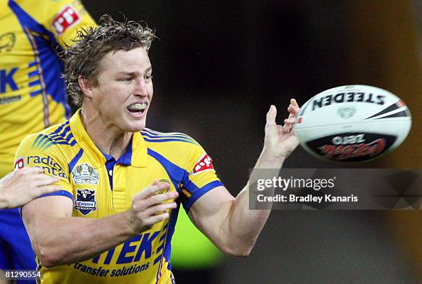
{"label": "hand of another person reaching in at the left edge", "polygon": [[46,193],[60,190],[59,177],[51,177],[43,168],[21,168],[0,179],[0,208],[15,208]]}

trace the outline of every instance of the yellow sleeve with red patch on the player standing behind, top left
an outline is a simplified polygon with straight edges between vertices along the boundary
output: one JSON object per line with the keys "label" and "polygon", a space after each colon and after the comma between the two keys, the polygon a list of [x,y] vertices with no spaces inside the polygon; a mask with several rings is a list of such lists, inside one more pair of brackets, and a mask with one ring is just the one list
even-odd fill
{"label": "yellow sleeve with red patch on the player standing behind, top left", "polygon": [[50,33],[50,41],[56,41],[63,48],[72,45],[77,30],[97,25],[79,0],[38,2],[34,5],[32,1],[23,1],[20,5]]}

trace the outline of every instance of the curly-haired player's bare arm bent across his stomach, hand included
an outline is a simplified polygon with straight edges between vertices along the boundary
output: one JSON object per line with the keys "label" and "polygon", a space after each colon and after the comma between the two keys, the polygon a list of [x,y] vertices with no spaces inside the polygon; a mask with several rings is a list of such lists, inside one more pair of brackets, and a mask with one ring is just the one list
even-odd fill
{"label": "curly-haired player's bare arm bent across his stomach, hand included", "polygon": [[155,181],[132,198],[130,210],[101,219],[72,217],[68,197],[35,199],[22,209],[32,248],[45,267],[92,259],[167,219],[167,211],[177,204],[165,202],[178,193],[154,193],[168,186]]}

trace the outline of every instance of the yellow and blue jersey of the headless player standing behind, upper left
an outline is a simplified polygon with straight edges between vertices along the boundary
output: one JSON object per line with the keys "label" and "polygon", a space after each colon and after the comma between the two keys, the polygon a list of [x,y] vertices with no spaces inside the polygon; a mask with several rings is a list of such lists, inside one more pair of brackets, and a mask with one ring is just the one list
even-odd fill
{"label": "yellow and blue jersey of the headless player standing behind, upper left", "polygon": [[93,25],[80,1],[0,0],[0,177],[28,133],[69,118],[56,52]]}

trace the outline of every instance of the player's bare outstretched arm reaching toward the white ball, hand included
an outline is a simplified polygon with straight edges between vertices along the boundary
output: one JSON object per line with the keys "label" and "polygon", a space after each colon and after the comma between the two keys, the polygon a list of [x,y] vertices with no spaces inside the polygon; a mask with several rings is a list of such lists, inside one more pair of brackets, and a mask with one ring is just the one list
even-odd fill
{"label": "player's bare outstretched arm reaching toward the white ball, hand included", "polygon": [[225,253],[248,256],[270,215],[270,208],[249,209],[249,184],[254,183],[258,176],[276,176],[285,158],[299,144],[292,129],[299,113],[296,100],[290,100],[288,111],[290,116],[284,120],[284,126],[275,122],[277,109],[274,106],[267,113],[263,151],[254,167],[267,170],[252,171],[248,184],[236,198],[225,187],[219,186],[200,197],[190,208],[189,216],[195,225]]}

